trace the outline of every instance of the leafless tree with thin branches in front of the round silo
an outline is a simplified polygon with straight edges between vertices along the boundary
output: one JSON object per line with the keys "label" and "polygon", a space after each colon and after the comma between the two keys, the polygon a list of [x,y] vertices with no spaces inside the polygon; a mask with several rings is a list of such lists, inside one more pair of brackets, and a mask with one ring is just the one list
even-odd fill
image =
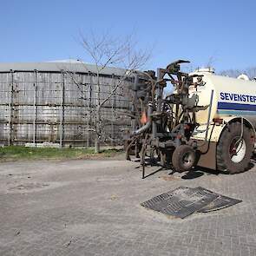
{"label": "leafless tree with thin branches in front of the round silo", "polygon": [[[103,135],[102,124],[104,117],[102,115],[102,107],[135,70],[141,69],[148,62],[150,54],[148,50],[137,49],[133,36],[126,36],[120,39],[110,36],[108,33],[95,36],[91,32],[89,36],[81,35],[81,43],[89,62],[95,65],[95,121],[90,131],[95,133],[95,153],[98,153],[100,151],[100,139]],[[84,64],[84,67],[87,69],[86,64]],[[100,75],[108,67],[118,67],[122,72],[121,75],[118,75],[114,88],[105,98],[101,99],[102,85]],[[79,82],[75,81],[75,75],[72,72],[68,71],[67,74],[78,87],[81,86]]]}

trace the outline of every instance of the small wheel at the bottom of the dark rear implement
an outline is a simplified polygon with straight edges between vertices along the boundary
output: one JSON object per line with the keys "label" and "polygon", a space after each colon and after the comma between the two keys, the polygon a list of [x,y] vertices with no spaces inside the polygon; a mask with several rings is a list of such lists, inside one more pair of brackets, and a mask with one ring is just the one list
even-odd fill
{"label": "small wheel at the bottom of the dark rear implement", "polygon": [[172,162],[175,171],[182,173],[194,167],[196,155],[194,149],[187,145],[181,145],[174,150]]}

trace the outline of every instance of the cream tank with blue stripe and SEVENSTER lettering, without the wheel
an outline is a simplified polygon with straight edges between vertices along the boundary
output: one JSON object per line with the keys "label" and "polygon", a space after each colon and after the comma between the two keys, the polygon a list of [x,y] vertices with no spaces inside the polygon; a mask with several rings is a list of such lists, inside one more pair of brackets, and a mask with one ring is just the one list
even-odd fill
{"label": "cream tank with blue stripe and SEVENSTER lettering, without the wheel", "polygon": [[[191,87],[190,95],[199,96],[198,105],[210,104],[211,92],[213,100],[209,121],[213,118],[220,118],[223,121],[230,121],[236,117],[244,117],[249,120],[254,128],[256,127],[256,82],[242,79],[214,75],[211,72],[195,72],[193,74],[203,75],[202,85],[196,89]],[[195,78],[196,79],[196,78]],[[196,113],[196,121],[200,123],[199,130],[207,127],[208,113],[210,108]],[[213,141],[218,141],[221,128],[214,129]],[[218,135],[219,134],[219,135]],[[203,138],[206,134],[199,133],[197,136]]]}

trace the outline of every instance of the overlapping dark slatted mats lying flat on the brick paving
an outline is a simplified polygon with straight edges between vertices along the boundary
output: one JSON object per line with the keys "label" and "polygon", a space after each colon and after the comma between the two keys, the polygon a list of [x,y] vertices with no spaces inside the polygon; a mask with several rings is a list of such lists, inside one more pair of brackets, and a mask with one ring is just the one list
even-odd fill
{"label": "overlapping dark slatted mats lying flat on the brick paving", "polygon": [[207,213],[240,201],[203,187],[178,187],[141,203],[141,206],[183,219],[194,212]]}

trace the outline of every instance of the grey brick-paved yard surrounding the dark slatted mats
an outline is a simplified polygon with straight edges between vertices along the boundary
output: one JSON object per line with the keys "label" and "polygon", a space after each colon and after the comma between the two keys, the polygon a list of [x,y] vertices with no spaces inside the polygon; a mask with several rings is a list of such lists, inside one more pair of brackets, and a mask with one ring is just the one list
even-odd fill
{"label": "grey brick-paved yard surrounding the dark slatted mats", "polygon": [[[256,167],[243,174],[196,169],[168,175],[119,160],[0,165],[0,255],[256,255]],[[240,200],[185,220],[140,206],[176,187]]]}

